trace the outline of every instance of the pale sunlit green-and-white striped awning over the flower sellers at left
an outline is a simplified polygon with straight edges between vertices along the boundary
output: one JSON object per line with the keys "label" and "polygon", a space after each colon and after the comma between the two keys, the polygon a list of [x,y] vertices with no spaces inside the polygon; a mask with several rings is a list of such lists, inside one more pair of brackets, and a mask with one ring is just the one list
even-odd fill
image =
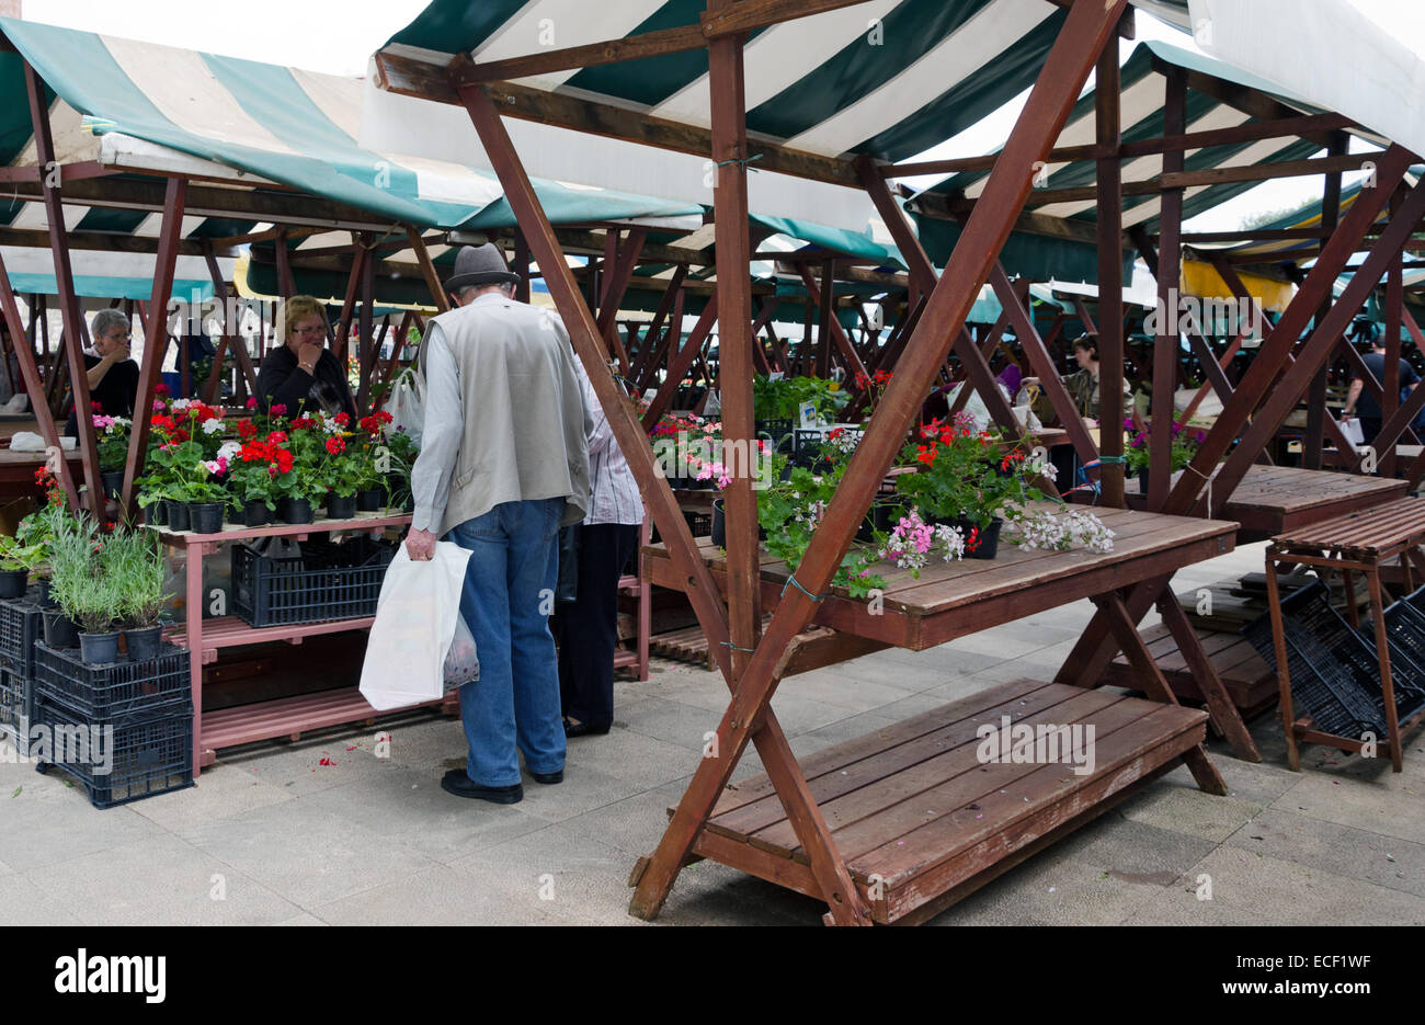
{"label": "pale sunlit green-and-white striped awning over the flower sellers at left", "polygon": [[[0,31],[51,91],[61,163],[97,158],[110,167],[192,171],[254,187],[278,184],[422,227],[482,228],[503,192],[489,171],[363,148],[362,83],[194,50],[0,19]],[[20,57],[0,54],[0,160],[34,161]],[[174,154],[198,158],[187,165]],[[701,212],[607,188],[540,181],[560,220],[668,217]],[[17,212],[17,211],[16,211]],[[0,208],[0,220],[3,220]],[[86,222],[87,221],[87,222]],[[142,217],[78,212],[73,230],[133,231]],[[231,225],[215,227],[235,234]],[[187,232],[192,234],[192,232]]]}

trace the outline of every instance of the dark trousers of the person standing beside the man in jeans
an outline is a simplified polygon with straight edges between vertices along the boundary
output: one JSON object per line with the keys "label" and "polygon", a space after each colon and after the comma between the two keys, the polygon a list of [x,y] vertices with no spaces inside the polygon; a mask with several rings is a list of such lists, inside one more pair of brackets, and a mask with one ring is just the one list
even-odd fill
{"label": "dark trousers of the person standing beside the man in jeans", "polygon": [[560,604],[554,617],[564,714],[596,730],[614,721],[618,577],[637,546],[637,526],[586,525],[579,539],[579,600]]}

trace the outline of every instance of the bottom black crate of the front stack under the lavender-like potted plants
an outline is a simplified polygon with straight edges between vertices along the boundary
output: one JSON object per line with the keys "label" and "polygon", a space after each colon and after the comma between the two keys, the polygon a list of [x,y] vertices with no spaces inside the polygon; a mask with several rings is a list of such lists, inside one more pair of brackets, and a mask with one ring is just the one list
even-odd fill
{"label": "bottom black crate of the front stack under the lavender-like potted plants", "polygon": [[36,748],[36,770],[63,768],[95,808],[192,786],[191,704],[160,716],[95,723],[41,697],[36,720],[47,746],[43,753]]}

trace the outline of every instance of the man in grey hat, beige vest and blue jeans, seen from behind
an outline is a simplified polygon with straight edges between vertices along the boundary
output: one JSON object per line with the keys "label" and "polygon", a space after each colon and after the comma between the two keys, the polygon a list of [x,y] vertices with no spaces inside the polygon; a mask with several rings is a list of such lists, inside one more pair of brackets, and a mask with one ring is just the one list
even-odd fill
{"label": "man in grey hat, beige vest and blue jeans, seen from behind", "polygon": [[440,786],[514,804],[516,748],[537,783],[564,778],[559,667],[547,616],[560,526],[589,506],[593,418],[569,332],[551,311],[514,299],[520,278],[487,242],[456,254],[445,282],[457,307],[430,321],[420,348],[426,421],[412,470],[413,560],[437,537],[470,550],[460,613],[480,679],[460,689],[470,754]]}

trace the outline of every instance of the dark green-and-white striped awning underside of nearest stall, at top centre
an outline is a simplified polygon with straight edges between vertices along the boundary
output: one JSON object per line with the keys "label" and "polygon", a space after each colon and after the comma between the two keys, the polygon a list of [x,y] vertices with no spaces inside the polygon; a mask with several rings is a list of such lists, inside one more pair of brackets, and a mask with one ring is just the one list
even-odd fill
{"label": "dark green-and-white striped awning underside of nearest stall, at top centre", "polygon": [[[704,0],[435,0],[385,51],[442,67],[697,24]],[[1026,86],[1066,11],[1047,0],[868,0],[750,36],[748,133],[825,155],[899,160],[980,120]],[[574,68],[520,84],[705,127],[705,50]]]}

